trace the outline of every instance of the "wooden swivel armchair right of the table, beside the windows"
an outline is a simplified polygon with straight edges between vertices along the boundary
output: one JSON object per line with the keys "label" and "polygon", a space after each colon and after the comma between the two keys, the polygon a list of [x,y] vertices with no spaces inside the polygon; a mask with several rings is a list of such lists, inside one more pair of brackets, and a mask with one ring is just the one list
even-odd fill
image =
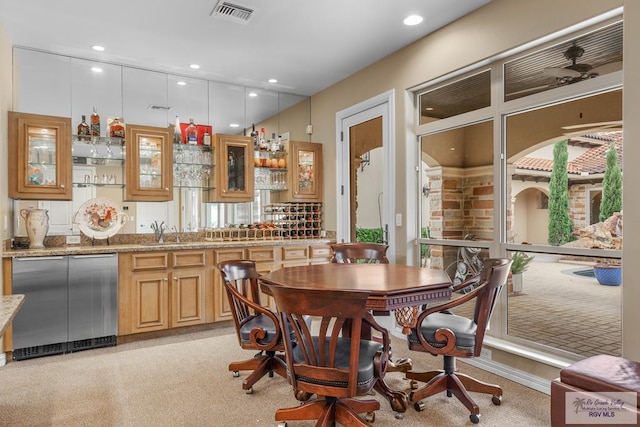
{"label": "wooden swivel armchair right of the table, beside the windows", "polygon": [[[480,409],[469,392],[491,394],[495,405],[502,402],[502,388],[488,384],[456,371],[456,358],[480,356],[485,332],[500,290],[507,282],[512,260],[488,258],[479,275],[478,285],[471,292],[442,305],[427,308],[416,319],[416,326],[407,337],[410,350],[444,357],[444,369],[429,372],[407,372],[412,389],[417,382],[426,383],[411,391],[409,400],[417,411],[425,408],[422,399],[446,391],[456,396],[471,412],[469,419],[480,421]],[[473,318],[453,314],[452,308],[475,300]]]}

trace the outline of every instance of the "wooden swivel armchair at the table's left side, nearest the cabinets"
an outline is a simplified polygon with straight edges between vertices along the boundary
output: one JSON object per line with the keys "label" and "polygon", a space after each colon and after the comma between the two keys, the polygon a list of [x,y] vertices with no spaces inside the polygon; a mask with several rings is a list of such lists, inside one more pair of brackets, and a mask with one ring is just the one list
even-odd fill
{"label": "wooden swivel armchair at the table's left side, nearest the cabinets", "polygon": [[257,350],[251,359],[231,362],[229,370],[234,376],[240,371],[252,371],[242,383],[247,394],[265,375],[274,372],[287,377],[284,360],[284,342],[278,316],[260,302],[260,275],[254,261],[232,260],[217,265],[229,299],[238,342],[245,350]]}

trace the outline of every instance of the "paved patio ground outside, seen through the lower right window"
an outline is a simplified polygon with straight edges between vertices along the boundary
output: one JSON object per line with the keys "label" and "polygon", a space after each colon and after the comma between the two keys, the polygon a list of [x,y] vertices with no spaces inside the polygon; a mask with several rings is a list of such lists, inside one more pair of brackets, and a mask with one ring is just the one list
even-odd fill
{"label": "paved patio ground outside, seen through the lower right window", "polygon": [[557,257],[536,256],[521,293],[508,298],[510,335],[587,356],[622,353],[622,286],[603,286],[588,270]]}

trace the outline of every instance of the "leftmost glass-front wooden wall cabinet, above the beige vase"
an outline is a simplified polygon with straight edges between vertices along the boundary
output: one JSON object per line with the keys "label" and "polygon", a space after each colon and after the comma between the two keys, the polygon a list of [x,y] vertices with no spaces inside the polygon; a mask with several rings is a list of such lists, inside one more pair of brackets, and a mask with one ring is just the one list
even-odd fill
{"label": "leftmost glass-front wooden wall cabinet, above the beige vase", "polygon": [[9,197],[71,200],[71,119],[9,112]]}

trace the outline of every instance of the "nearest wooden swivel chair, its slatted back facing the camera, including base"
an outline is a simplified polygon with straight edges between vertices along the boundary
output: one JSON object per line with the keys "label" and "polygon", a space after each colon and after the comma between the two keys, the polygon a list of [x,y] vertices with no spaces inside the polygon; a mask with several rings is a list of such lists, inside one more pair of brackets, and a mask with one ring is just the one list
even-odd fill
{"label": "nearest wooden swivel chair, its slatted back facing the camera, including base", "polygon": [[[278,426],[287,421],[317,420],[317,426],[370,426],[380,402],[364,396],[384,377],[389,341],[362,339],[368,292],[270,287],[285,334],[289,381],[301,405],[276,411]],[[313,329],[305,316],[313,316]],[[342,335],[348,327],[347,335]],[[295,340],[293,339],[295,338]],[[312,395],[316,398],[310,399]],[[366,414],[361,418],[359,414]]]}

